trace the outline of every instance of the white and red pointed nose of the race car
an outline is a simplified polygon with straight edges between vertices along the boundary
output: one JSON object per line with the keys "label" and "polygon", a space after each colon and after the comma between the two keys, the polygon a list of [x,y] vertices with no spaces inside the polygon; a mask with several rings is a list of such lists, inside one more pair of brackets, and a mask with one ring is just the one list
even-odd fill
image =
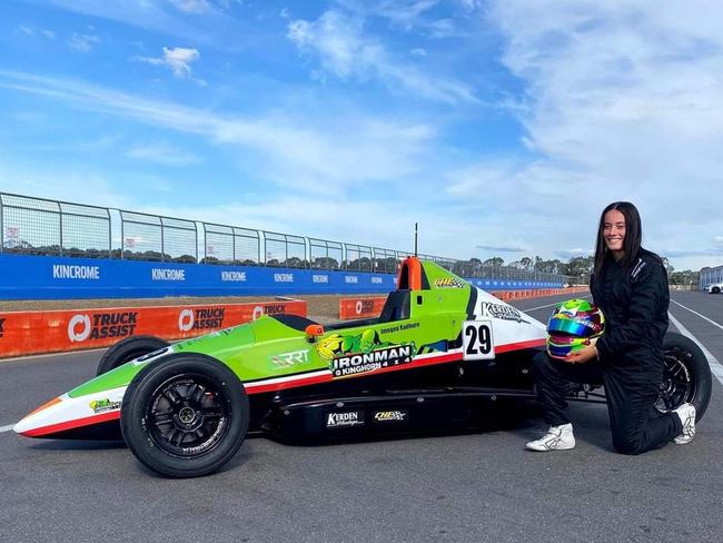
{"label": "white and red pointed nose of the race car", "polygon": [[120,418],[126,387],[79,397],[58,396],[27,415],[12,428],[26,437],[55,437],[67,431]]}

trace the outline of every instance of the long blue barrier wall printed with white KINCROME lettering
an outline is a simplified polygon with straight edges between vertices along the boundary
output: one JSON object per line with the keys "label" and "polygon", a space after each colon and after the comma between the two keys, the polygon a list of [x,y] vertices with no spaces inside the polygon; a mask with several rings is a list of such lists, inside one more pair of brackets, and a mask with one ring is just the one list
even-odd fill
{"label": "long blue barrier wall printed with white KINCROME lettering", "polygon": [[[562,285],[468,279],[485,290]],[[178,264],[115,258],[0,254],[0,299],[155,298],[166,296],[373,295],[394,290],[396,275],[369,272]]]}

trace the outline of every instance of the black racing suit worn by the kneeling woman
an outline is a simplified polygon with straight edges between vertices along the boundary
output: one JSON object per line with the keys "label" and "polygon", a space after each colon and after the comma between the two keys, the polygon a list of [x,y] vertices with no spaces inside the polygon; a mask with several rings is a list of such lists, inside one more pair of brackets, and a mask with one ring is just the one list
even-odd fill
{"label": "black racing suit worn by the kneeling woman", "polygon": [[570,364],[539,353],[534,359],[537,395],[551,426],[567,424],[568,382],[604,383],[613,446],[623,454],[656,448],[682,432],[674,413],[655,407],[663,375],[663,336],[667,329],[667,274],[655,254],[641,249],[625,269],[606,258],[591,278],[594,303],[605,315],[597,340],[600,359]]}

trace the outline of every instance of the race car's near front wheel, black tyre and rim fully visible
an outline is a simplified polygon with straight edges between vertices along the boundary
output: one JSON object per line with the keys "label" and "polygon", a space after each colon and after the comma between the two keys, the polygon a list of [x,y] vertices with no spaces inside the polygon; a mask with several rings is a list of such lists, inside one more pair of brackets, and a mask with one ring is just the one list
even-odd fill
{"label": "race car's near front wheel, black tyre and rim fully visible", "polygon": [[239,450],[249,423],[244,385],[210,356],[182,353],[143,368],[120,412],[126,444],[168,477],[208,475]]}

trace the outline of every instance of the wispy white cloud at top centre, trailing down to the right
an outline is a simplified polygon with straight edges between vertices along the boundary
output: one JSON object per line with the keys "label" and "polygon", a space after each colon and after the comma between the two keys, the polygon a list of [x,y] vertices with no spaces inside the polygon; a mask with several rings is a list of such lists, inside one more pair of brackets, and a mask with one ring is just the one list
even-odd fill
{"label": "wispy white cloud at top centre, trailing down to the right", "polygon": [[287,36],[303,53],[318,57],[325,73],[340,79],[376,78],[389,88],[452,105],[478,101],[459,81],[429,77],[394,60],[378,39],[365,34],[363,19],[341,11],[326,11],[311,22],[293,21]]}

